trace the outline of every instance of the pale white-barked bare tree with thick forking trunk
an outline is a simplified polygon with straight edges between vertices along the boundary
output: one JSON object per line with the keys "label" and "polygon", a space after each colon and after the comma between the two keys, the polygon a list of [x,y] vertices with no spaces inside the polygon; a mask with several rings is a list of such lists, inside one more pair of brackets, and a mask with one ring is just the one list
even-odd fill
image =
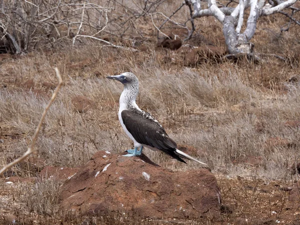
{"label": "pale white-barked bare tree with thick forking trunk", "polygon": [[[253,51],[253,44],[250,39],[253,37],[256,29],[257,19],[260,16],[273,13],[282,13],[290,19],[290,23],[300,25],[293,14],[299,11],[299,8],[292,5],[297,0],[239,0],[235,2],[229,0],[227,4],[222,4],[216,0],[207,0],[207,8],[201,8],[201,0],[185,0],[193,6],[191,18],[202,16],[214,16],[223,24],[223,34],[230,54],[250,54]],[[231,7],[230,4],[235,4]],[[245,29],[241,30],[244,23],[245,10],[249,8]],[[291,14],[283,12],[283,9],[289,9]],[[289,24],[290,24],[289,23]]]}

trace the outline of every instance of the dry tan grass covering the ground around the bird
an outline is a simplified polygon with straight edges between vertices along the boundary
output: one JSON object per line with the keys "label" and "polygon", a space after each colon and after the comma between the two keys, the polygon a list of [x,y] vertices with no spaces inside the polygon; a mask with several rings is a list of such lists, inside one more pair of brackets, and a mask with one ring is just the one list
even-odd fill
{"label": "dry tan grass covering the ground around the bird", "polygon": [[[169,2],[162,10],[171,13],[176,7]],[[184,20],[176,16],[174,19]],[[206,58],[194,66],[184,66],[180,60],[169,60],[174,51],[155,47],[156,31],[149,19],[139,20],[143,35],[148,37],[143,43],[147,51],[85,41],[75,47],[41,48],[23,56],[2,59],[0,55],[0,167],[20,156],[30,143],[55,88],[54,66],[59,68],[64,84],[39,133],[38,152],[5,176],[28,179],[45,165],[76,167],[98,150],[121,152],[131,148],[117,119],[122,86],[105,79],[106,75],[131,71],[140,81],[137,104],[157,118],[177,143],[196,149],[191,154],[208,163],[222,191],[226,207],[221,218],[177,222],[233,224],[237,217],[243,217],[247,218],[245,224],[275,224],[276,220],[299,224],[299,202],[291,205],[288,193],[280,190],[297,180],[290,167],[300,154],[299,125],[292,125],[292,121],[300,120],[300,85],[299,81],[288,81],[292,76],[300,80],[300,27],[291,25],[288,32],[280,32],[284,19],[283,15],[271,15],[259,20],[252,41],[257,52],[280,54],[285,61],[268,57],[259,63],[246,59],[215,62]],[[224,46],[221,26],[212,18],[201,18],[196,26],[201,30],[188,43],[200,38],[201,44]],[[176,34],[180,29],[165,28],[164,32]],[[111,40],[124,45],[116,37]],[[73,98],[78,95],[91,102],[83,113],[74,108]],[[193,162],[184,165],[150,150],[145,154],[171,169],[200,166]],[[0,179],[0,223],[9,224],[9,216],[16,218],[14,224],[141,222],[129,216],[63,214],[58,211],[59,185],[42,178],[17,184]]]}

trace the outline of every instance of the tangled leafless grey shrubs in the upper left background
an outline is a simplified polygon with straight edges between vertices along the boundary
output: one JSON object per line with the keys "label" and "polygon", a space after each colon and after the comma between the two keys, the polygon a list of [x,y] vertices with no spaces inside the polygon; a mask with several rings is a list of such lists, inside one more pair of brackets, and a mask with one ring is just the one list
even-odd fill
{"label": "tangled leafless grey shrubs in the upper left background", "polygon": [[0,40],[15,54],[87,39],[132,50],[110,42],[108,37],[134,45],[136,39],[130,36],[135,33],[138,41],[146,40],[136,28],[138,19],[156,13],[164,1],[0,0]]}

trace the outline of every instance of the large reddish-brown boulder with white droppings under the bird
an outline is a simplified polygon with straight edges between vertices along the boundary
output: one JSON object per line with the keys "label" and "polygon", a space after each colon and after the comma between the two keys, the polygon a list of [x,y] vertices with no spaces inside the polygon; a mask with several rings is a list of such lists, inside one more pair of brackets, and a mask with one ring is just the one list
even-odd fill
{"label": "large reddish-brown boulder with white droppings under the bird", "polygon": [[[147,162],[145,161],[147,160]],[[220,192],[206,169],[173,172],[146,156],[96,152],[62,185],[62,206],[89,214],[134,213],[150,218],[219,215]]]}

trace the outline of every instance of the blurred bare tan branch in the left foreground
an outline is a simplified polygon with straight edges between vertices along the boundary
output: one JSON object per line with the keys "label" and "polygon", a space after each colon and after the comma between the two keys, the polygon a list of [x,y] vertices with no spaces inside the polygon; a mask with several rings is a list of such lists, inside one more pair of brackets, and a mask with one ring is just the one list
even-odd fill
{"label": "blurred bare tan branch in the left foreground", "polygon": [[43,120],[44,120],[44,118],[46,116],[46,113],[47,113],[49,107],[51,106],[52,102],[56,98],[56,95],[57,95],[57,93],[58,93],[58,91],[59,91],[59,89],[60,89],[60,87],[62,85],[62,78],[61,78],[61,75],[59,73],[59,70],[58,70],[57,67],[55,67],[54,69],[55,69],[56,76],[57,76],[57,79],[58,79],[58,84],[57,84],[57,86],[56,86],[56,88],[55,88],[55,90],[54,90],[54,92],[52,94],[52,97],[51,97],[49,103],[46,105],[45,109],[42,112],[41,118],[40,118],[39,123],[38,123],[38,125],[37,125],[37,127],[35,129],[35,132],[34,132],[34,134],[32,136],[32,141],[31,141],[31,143],[30,143],[27,151],[22,156],[20,156],[19,158],[15,159],[12,162],[10,162],[9,164],[5,165],[0,170],[0,175],[3,174],[3,172],[6,171],[7,169],[9,169],[11,166],[15,165],[18,162],[23,161],[29,154],[31,154],[31,153],[33,153],[35,151],[34,145],[35,145],[35,141],[36,141],[36,138],[37,138],[37,134],[38,134],[38,132],[40,130],[40,127],[41,127],[41,125],[43,123]]}

